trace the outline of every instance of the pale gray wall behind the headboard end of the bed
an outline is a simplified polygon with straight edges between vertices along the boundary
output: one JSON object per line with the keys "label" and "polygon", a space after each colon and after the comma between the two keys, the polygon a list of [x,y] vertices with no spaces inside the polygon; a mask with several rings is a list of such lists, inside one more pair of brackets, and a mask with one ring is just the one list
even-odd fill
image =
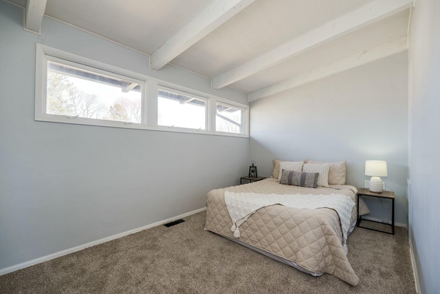
{"label": "pale gray wall behind the headboard end of the bed", "polygon": [[[365,160],[386,160],[396,222],[407,223],[408,54],[401,52],[251,103],[250,160],[347,160],[347,183],[364,186]],[[389,201],[367,199],[369,217],[391,220]]]}

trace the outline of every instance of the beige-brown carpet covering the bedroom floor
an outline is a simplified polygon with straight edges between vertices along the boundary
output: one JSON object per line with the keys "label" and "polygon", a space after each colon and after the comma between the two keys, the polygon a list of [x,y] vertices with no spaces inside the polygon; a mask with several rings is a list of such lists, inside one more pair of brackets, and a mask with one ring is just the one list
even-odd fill
{"label": "beige-brown carpet covering the bedroom floor", "polygon": [[[0,276],[0,293],[415,293],[407,232],[356,228],[353,287],[203,231],[206,213]],[[362,223],[366,225],[367,222]]]}

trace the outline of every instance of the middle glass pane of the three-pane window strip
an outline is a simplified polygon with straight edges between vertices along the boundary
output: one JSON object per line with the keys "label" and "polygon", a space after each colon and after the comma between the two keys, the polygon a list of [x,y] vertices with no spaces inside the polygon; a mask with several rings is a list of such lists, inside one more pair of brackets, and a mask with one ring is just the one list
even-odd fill
{"label": "middle glass pane of the three-pane window strip", "polygon": [[206,129],[206,98],[159,87],[157,125]]}

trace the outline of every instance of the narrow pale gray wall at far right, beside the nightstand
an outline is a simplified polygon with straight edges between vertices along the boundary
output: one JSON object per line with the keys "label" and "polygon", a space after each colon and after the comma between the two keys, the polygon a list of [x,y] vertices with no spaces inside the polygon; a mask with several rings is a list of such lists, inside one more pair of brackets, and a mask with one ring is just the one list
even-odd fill
{"label": "narrow pale gray wall at far right, beside the nightstand", "polygon": [[440,1],[417,0],[410,25],[409,231],[419,293],[440,289]]}

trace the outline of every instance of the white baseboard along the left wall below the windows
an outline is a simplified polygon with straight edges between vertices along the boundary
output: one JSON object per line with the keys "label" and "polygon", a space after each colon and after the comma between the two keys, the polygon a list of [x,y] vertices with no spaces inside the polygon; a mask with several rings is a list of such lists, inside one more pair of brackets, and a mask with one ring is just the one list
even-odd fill
{"label": "white baseboard along the left wall below the windows", "polygon": [[15,264],[13,266],[8,266],[8,267],[6,267],[4,269],[0,269],[0,275],[5,275],[6,273],[12,273],[13,271],[18,271],[19,269],[24,269],[24,268],[26,268],[28,266],[32,266],[34,264],[39,264],[41,262],[46,262],[47,260],[53,260],[54,258],[59,258],[59,257],[61,257],[63,255],[67,255],[69,253],[74,253],[76,251],[80,251],[80,250],[86,249],[86,248],[91,247],[91,246],[95,246],[95,245],[98,245],[98,244],[101,244],[101,243],[104,243],[104,242],[109,242],[111,240],[122,238],[122,237],[124,237],[126,235],[131,235],[133,233],[144,231],[146,229],[150,229],[152,227],[156,227],[156,226],[159,226],[161,224],[165,224],[167,222],[173,222],[173,220],[177,220],[179,218],[185,218],[186,216],[191,216],[192,214],[199,213],[199,212],[205,211],[205,210],[206,210],[206,207],[203,207],[201,209],[196,209],[194,211],[190,211],[190,212],[181,214],[179,216],[175,216],[173,218],[167,218],[166,220],[161,220],[159,222],[154,222],[153,224],[147,224],[144,227],[140,227],[140,228],[137,228],[137,229],[132,229],[132,230],[125,231],[125,232],[122,232],[122,233],[111,235],[109,237],[102,238],[102,239],[99,239],[99,240],[96,240],[96,241],[92,241],[92,242],[89,242],[89,243],[86,243],[86,244],[82,244],[82,245],[79,245],[79,246],[75,246],[75,247],[72,247],[70,249],[65,249],[63,251],[52,253],[50,255],[45,255],[45,256],[42,256],[41,258],[36,258],[36,259],[30,260],[28,262],[22,262],[21,264]]}

